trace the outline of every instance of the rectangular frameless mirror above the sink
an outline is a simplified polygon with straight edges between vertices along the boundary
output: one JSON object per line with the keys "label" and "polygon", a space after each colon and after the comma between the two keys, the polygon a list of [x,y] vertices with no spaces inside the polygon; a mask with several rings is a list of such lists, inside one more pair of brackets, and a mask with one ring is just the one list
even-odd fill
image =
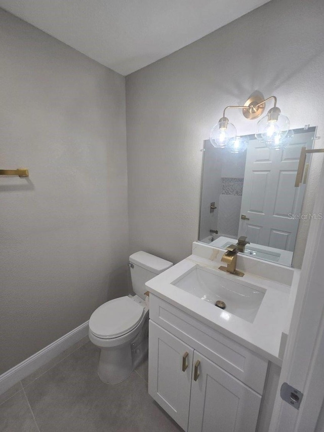
{"label": "rectangular frameless mirror above the sink", "polygon": [[[302,147],[311,149],[316,128],[295,129],[289,146],[270,150],[249,135],[247,150],[231,153],[204,141],[200,242],[292,266],[310,155],[295,187]],[[246,239],[244,239],[246,237]]]}

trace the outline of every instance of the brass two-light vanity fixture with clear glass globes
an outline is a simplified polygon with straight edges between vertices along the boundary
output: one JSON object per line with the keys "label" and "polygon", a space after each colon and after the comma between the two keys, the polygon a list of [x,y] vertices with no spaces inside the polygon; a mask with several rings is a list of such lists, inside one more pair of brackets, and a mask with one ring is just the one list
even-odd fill
{"label": "brass two-light vanity fixture with clear glass globes", "polygon": [[213,146],[216,148],[225,148],[233,145],[233,142],[235,142],[236,129],[225,116],[226,109],[240,108],[246,119],[254,120],[263,114],[265,103],[270,99],[273,99],[274,106],[269,109],[267,115],[259,120],[255,136],[269,148],[280,149],[287,147],[290,141],[287,137],[290,132],[290,123],[288,117],[281,114],[280,108],[277,107],[277,98],[275,96],[270,96],[267,99],[263,99],[261,96],[252,96],[246,101],[244,106],[226,106],[223,111],[223,117],[211,130],[209,139]]}

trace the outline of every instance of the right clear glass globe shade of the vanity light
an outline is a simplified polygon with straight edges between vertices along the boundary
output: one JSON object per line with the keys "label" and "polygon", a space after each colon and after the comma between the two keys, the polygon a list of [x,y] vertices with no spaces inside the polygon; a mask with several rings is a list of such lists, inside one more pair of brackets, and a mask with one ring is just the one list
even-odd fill
{"label": "right clear glass globe shade of the vanity light", "polygon": [[258,122],[255,136],[269,148],[285,148],[289,144],[289,140],[285,139],[289,125],[288,117],[281,114],[278,107],[274,107]]}

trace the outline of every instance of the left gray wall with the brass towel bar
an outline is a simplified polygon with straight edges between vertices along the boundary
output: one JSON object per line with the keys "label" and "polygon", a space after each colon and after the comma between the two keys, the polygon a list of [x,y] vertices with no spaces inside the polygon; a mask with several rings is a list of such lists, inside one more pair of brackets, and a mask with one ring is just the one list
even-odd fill
{"label": "left gray wall with the brass towel bar", "polygon": [[0,374],[127,291],[125,78],[0,10]]}

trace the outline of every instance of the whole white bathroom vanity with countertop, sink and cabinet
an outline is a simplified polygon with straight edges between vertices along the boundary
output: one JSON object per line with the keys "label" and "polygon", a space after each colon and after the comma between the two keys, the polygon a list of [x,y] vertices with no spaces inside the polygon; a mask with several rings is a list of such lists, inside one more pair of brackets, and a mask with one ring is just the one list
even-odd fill
{"label": "whole white bathroom vanity with countertop, sink and cabinet", "polygon": [[185,431],[263,432],[299,270],[239,256],[239,278],[218,269],[223,253],[193,243],[193,255],[146,284],[148,391]]}

